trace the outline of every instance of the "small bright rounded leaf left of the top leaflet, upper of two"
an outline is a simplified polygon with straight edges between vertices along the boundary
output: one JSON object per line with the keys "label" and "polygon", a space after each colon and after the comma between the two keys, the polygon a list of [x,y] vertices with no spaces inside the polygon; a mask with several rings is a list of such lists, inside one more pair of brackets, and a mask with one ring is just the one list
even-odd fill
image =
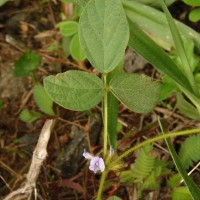
{"label": "small bright rounded leaf left of the top leaflet, upper of two", "polygon": [[63,36],[72,36],[78,32],[78,23],[75,21],[62,22],[60,32]]}

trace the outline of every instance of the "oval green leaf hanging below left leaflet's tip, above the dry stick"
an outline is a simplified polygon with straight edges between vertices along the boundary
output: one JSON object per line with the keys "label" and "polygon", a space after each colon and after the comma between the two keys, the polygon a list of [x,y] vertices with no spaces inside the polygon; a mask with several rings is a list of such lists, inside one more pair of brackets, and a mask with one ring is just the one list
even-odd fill
{"label": "oval green leaf hanging below left leaflet's tip, above the dry stick", "polygon": [[36,84],[33,90],[33,96],[37,106],[40,110],[48,115],[55,115],[53,111],[53,101],[46,93],[44,87],[40,84]]}

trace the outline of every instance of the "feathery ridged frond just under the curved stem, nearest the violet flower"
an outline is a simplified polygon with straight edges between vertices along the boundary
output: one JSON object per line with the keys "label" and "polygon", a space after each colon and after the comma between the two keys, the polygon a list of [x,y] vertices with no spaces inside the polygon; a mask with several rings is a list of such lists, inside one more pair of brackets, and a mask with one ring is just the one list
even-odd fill
{"label": "feathery ridged frond just under the curved stem, nearest the violet flower", "polygon": [[146,145],[140,149],[135,163],[131,167],[135,182],[143,182],[153,170],[155,158],[149,155],[152,149],[153,147],[151,145]]}

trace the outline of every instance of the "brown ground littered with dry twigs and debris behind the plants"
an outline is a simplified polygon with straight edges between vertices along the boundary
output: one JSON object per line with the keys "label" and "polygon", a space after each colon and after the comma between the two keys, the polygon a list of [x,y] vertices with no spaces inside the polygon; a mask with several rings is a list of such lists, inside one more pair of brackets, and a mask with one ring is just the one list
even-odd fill
{"label": "brown ground littered with dry twigs and debris behind the plants", "polygon": [[[59,32],[53,27],[60,21],[62,5],[53,1],[42,5],[40,3],[40,1],[18,0],[0,8],[0,98],[4,104],[0,110],[0,198],[18,188],[23,182],[40,130],[45,120],[49,118],[44,115],[31,124],[19,119],[22,109],[39,111],[39,108],[33,100],[33,81],[29,78],[16,78],[12,73],[16,60],[27,49],[42,55],[42,64],[37,71],[37,78],[41,82],[43,77],[58,71],[91,70],[87,67],[87,63],[77,63],[63,58],[61,50],[57,53],[48,51],[56,41],[61,41]],[[139,68],[133,68],[138,65]],[[157,79],[160,76],[151,66],[130,52],[127,53],[126,69],[145,73]],[[119,133],[119,153],[157,134],[157,116],[163,119],[166,131],[200,127],[199,122],[178,113],[175,96],[165,103],[172,109],[158,105],[147,115],[134,114],[120,106],[119,121],[123,124],[123,129]],[[85,147],[94,153],[102,149],[101,109],[97,107],[92,110],[96,119],[89,117],[87,113],[64,110],[56,105],[55,110],[60,117],[56,118],[57,122],[48,145],[48,158],[37,182],[38,199],[93,199],[100,176],[94,176],[88,170],[82,153]],[[130,134],[130,137],[126,138],[127,134]],[[174,141],[176,148],[181,142],[181,137]],[[155,154],[171,162],[163,141],[154,145]],[[134,159],[134,155],[130,156],[127,160],[128,165]],[[196,176],[196,179],[199,179],[199,174]],[[119,179],[114,173],[110,173],[108,179],[114,184],[108,186],[105,194],[108,196],[116,194],[124,200],[133,199],[135,189],[133,185],[119,186]],[[156,191],[146,192],[144,199],[170,199],[166,177],[161,177],[159,181],[160,187]]]}

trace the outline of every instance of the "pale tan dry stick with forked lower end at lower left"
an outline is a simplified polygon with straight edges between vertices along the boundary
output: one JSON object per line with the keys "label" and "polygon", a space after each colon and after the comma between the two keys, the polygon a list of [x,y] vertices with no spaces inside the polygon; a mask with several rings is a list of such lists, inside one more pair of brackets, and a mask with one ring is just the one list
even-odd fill
{"label": "pale tan dry stick with forked lower end at lower left", "polygon": [[47,156],[46,148],[49,141],[52,124],[53,120],[46,120],[42,128],[37,146],[35,147],[35,150],[33,152],[31,166],[29,168],[28,174],[26,175],[25,183],[21,188],[11,192],[7,197],[4,198],[4,200],[10,200],[16,196],[21,195],[26,195],[27,197],[30,197],[33,191],[36,193],[36,181],[40,173],[42,164]]}

